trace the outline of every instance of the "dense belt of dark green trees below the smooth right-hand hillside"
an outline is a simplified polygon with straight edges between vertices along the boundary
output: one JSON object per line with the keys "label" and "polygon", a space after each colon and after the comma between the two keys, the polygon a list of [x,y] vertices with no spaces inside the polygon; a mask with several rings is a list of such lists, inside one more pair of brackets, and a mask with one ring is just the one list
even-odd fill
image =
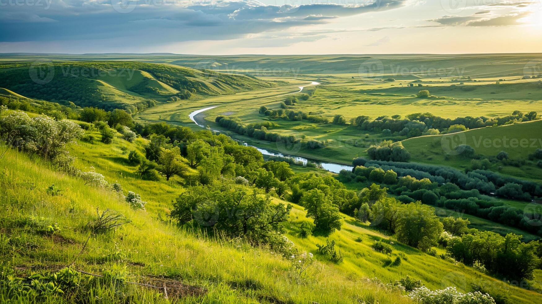
{"label": "dense belt of dark green trees below the smooth right-hand hillside", "polygon": [[[390,190],[398,195],[398,200],[405,203],[421,201],[424,204],[450,210],[461,210],[467,214],[518,227],[531,233],[542,233],[537,214],[506,206],[488,195],[480,193],[481,191],[486,193],[495,191],[492,182],[495,181],[502,185],[495,191],[496,195],[509,199],[530,200],[531,195],[525,191],[530,189],[538,191],[539,186],[535,183],[531,184],[529,181],[503,177],[483,170],[474,170],[464,174],[451,168],[450,172],[447,172],[443,170],[447,167],[428,164],[362,161],[359,159],[355,161],[356,163],[364,162],[368,167],[356,166],[353,173],[344,170],[338,175],[339,180],[350,181],[362,178],[359,181],[370,180],[385,183],[390,185]],[[396,164],[397,166],[389,166],[388,164]],[[425,171],[440,175],[431,175]],[[409,173],[414,173],[414,176]],[[396,178],[395,174],[399,177]],[[513,181],[522,182],[525,186],[522,187],[520,183]]]}

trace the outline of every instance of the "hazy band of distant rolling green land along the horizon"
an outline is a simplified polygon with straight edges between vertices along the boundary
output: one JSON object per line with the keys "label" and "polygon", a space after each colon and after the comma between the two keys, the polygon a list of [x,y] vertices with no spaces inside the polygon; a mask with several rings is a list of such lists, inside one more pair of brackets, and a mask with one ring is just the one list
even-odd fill
{"label": "hazy band of distant rolling green land along the horizon", "polygon": [[[4,54],[0,60],[137,60],[167,63],[215,71],[238,71],[258,75],[351,74],[359,77],[360,67],[378,60],[379,76],[411,75],[406,79],[471,76],[476,78],[517,77],[525,68],[540,62],[532,54],[367,54],[367,55],[229,55],[183,54]],[[402,77],[402,76],[401,76]]]}

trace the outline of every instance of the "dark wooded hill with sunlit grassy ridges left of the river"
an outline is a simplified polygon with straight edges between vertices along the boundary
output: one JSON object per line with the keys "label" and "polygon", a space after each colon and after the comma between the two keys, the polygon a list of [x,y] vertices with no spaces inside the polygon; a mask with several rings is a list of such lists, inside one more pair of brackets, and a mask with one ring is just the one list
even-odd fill
{"label": "dark wooded hill with sunlit grassy ridges left of the river", "polygon": [[246,75],[143,62],[59,61],[0,65],[0,87],[36,99],[130,112],[192,94],[230,94],[270,87]]}

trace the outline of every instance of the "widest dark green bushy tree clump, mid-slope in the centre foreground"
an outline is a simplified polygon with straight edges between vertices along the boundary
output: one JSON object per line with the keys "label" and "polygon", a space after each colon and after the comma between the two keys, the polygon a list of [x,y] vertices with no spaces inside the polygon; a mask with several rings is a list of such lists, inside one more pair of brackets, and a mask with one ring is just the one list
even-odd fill
{"label": "widest dark green bushy tree clump, mid-slope in the centre foreground", "polygon": [[253,244],[285,246],[283,222],[292,205],[274,204],[269,195],[231,183],[189,187],[173,202],[171,217],[213,233],[243,237]]}

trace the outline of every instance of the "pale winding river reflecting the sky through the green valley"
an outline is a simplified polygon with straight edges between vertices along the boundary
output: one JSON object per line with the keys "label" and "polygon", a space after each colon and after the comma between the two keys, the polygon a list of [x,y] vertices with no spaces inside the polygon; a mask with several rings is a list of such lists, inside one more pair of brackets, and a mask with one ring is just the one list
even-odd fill
{"label": "pale winding river reflecting the sky through the green valley", "polygon": [[[319,85],[320,83],[317,83],[316,81],[311,81],[310,84],[306,85],[306,86],[299,86],[299,91],[297,92],[293,92],[293,93],[287,93],[287,94],[284,94],[282,96],[286,96],[286,95],[289,95],[289,94],[295,94],[295,93],[300,93],[301,91],[303,91],[303,89],[307,86],[313,86],[313,85]],[[203,113],[207,110],[211,110],[211,109],[215,109],[215,107],[217,106],[209,106],[209,107],[205,107],[203,109],[199,109],[199,110],[196,110],[196,111],[193,111],[190,113],[190,115],[188,115],[188,117],[191,119],[192,122],[194,122],[197,126],[201,127],[201,128],[205,128],[204,125],[202,124],[199,124],[195,117],[196,115],[198,115],[199,113]],[[219,130],[213,130],[215,132],[220,132]],[[243,141],[238,141],[244,145],[247,145],[249,147],[254,147],[253,145],[249,145],[248,143],[246,142],[243,142]],[[343,169],[346,169],[346,170],[352,170],[352,166],[346,166],[344,164],[340,164],[340,163],[334,163],[334,162],[322,162],[322,161],[319,161],[319,160],[315,160],[315,159],[306,159],[305,157],[301,157],[301,156],[297,156],[297,155],[291,155],[291,154],[282,154],[282,153],[279,153],[279,152],[276,152],[276,151],[273,151],[273,150],[267,150],[267,149],[263,149],[263,148],[260,148],[260,147],[254,147],[256,148],[258,151],[261,152],[261,154],[263,155],[268,155],[268,156],[280,156],[280,157],[291,157],[292,159],[294,159],[295,161],[297,162],[302,162],[303,164],[307,164],[307,162],[313,162],[313,163],[317,163],[319,164],[319,166],[322,168],[322,169],[325,169],[329,172],[333,172],[333,173],[339,173],[340,170],[343,170]]]}

